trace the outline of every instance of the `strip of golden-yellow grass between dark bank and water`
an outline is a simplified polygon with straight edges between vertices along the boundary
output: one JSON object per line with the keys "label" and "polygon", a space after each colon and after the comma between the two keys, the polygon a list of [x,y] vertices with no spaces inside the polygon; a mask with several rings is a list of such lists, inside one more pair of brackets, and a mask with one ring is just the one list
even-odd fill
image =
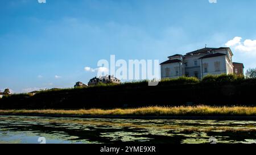
{"label": "strip of golden-yellow grass between dark bank and water", "polygon": [[256,107],[211,107],[211,106],[180,106],[180,107],[141,107],[115,108],[112,110],[0,110],[0,115],[10,114],[46,114],[46,115],[111,115],[111,116],[256,116]]}

